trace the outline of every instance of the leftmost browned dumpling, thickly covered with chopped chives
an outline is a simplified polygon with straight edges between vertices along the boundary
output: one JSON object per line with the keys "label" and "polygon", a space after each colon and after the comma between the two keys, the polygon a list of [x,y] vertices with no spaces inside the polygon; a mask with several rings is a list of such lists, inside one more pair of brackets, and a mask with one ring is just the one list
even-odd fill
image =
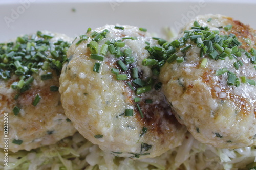
{"label": "leftmost browned dumpling, thickly covered with chopped chives", "polygon": [[59,62],[70,42],[62,34],[37,32],[0,45],[5,56],[1,58],[0,133],[8,138],[9,151],[54,144],[76,132],[58,92]]}

